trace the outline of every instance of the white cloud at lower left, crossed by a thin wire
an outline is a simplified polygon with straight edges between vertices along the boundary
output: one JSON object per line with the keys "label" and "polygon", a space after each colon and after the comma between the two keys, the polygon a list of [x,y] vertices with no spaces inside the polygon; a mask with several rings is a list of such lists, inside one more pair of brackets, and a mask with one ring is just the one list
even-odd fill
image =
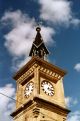
{"label": "white cloud at lower left, crossed by a thin wire", "polygon": [[15,88],[12,84],[6,84],[4,87],[0,87],[0,121],[4,121],[4,119],[6,121],[12,121],[10,113],[14,110],[15,102],[2,94],[14,98]]}

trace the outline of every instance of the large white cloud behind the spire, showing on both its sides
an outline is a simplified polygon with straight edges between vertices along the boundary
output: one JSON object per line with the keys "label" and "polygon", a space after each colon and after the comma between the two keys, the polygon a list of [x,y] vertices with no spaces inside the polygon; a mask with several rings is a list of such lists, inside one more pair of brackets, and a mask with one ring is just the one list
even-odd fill
{"label": "large white cloud behind the spire, showing on both its sides", "polygon": [[[36,22],[34,19],[29,18],[28,15],[23,14],[20,10],[6,12],[1,21],[6,24],[9,24],[9,21],[11,21],[13,29],[4,36],[6,40],[5,47],[11,55],[13,55],[13,60],[16,60],[13,61],[17,63],[15,67],[20,67],[20,65],[23,65],[28,60],[28,54],[36,35]],[[41,29],[44,41],[52,45],[54,42],[52,36],[55,34],[55,31],[45,26],[42,26]],[[24,60],[20,60],[21,57],[23,57]]]}

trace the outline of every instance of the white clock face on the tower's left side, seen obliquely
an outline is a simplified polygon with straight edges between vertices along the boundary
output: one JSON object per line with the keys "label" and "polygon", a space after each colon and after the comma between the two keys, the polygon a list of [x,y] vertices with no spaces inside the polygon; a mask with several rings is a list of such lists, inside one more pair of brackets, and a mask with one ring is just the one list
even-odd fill
{"label": "white clock face on the tower's left side, seen obliquely", "polygon": [[29,97],[31,95],[31,93],[33,92],[33,89],[34,89],[34,83],[33,82],[29,82],[27,85],[26,85],[26,88],[25,88],[25,96],[26,97]]}

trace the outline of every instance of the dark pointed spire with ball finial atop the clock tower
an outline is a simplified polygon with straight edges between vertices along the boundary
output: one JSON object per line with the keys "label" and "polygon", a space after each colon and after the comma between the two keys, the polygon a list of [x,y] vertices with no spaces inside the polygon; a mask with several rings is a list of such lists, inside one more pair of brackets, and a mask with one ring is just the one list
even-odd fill
{"label": "dark pointed spire with ball finial atop the clock tower", "polygon": [[33,41],[29,56],[37,56],[39,58],[44,59],[44,57],[49,54],[49,51],[47,50],[43,42],[42,36],[40,34],[41,31],[40,26],[36,27],[36,31],[37,34],[35,40]]}

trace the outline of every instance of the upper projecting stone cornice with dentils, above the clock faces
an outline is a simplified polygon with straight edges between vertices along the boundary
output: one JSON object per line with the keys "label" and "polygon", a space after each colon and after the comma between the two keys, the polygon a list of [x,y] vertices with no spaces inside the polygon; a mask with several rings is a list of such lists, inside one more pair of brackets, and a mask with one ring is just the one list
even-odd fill
{"label": "upper projecting stone cornice with dentils, above the clock faces", "polygon": [[[57,76],[58,78],[59,77],[63,77],[65,74],[66,74],[66,71],[60,69],[59,67],[53,65],[53,64],[50,64],[49,62],[43,60],[43,59],[40,59],[38,57],[32,57],[32,59],[27,63],[25,64],[25,66],[23,66],[15,75],[14,75],[14,79],[17,80],[19,79],[22,75],[24,75],[25,73],[27,73],[27,71],[31,68],[33,71],[33,69],[37,66],[40,66],[40,70],[42,71],[43,68],[45,68],[47,70],[50,70],[50,74],[53,73],[53,75],[55,75],[55,77]],[[42,66],[42,67],[41,67]],[[49,73],[49,71],[47,71],[47,73]],[[57,75],[58,74],[58,75]]]}

